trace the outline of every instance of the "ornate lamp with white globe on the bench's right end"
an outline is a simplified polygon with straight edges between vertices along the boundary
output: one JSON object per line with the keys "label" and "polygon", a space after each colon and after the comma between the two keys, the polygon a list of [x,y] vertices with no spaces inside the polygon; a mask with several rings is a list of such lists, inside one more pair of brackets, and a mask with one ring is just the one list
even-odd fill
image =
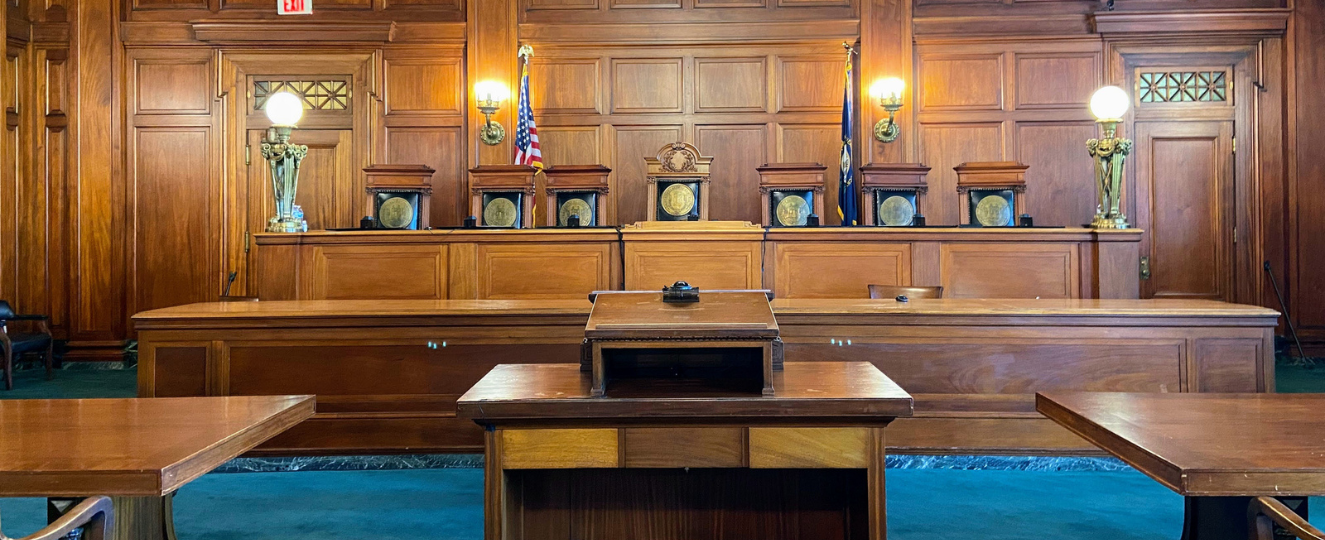
{"label": "ornate lamp with white globe on the bench's right end", "polygon": [[1118,123],[1128,112],[1130,98],[1117,86],[1105,86],[1090,97],[1090,114],[1104,127],[1102,139],[1085,142],[1094,159],[1094,187],[1100,205],[1090,226],[1094,229],[1126,229],[1128,216],[1122,214],[1122,161],[1132,152],[1132,140],[1117,136]]}

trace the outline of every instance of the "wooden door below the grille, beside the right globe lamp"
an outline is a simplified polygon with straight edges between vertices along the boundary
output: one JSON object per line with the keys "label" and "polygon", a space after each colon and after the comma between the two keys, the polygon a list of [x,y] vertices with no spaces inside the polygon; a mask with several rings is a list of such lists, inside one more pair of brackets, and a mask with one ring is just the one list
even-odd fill
{"label": "wooden door below the grille, beside the right globe lamp", "polygon": [[1234,123],[1137,122],[1141,298],[1234,295]]}

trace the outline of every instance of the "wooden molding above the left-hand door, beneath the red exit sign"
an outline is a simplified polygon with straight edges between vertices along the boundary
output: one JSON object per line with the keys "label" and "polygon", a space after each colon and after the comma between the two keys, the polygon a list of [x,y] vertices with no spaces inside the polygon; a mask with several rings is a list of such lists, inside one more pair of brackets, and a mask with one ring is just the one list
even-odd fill
{"label": "wooden molding above the left-hand door, beneath the red exit sign", "polygon": [[253,42],[391,42],[396,24],[195,21],[193,37],[211,44]]}

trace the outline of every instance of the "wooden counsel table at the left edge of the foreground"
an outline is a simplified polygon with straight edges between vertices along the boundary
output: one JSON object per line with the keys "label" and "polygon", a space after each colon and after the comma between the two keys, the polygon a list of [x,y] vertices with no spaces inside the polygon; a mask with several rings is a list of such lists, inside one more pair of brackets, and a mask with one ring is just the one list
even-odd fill
{"label": "wooden counsel table at the left edge of the foreground", "polygon": [[175,537],[170,498],[313,416],[313,396],[0,400],[0,496],[110,495],[111,539]]}

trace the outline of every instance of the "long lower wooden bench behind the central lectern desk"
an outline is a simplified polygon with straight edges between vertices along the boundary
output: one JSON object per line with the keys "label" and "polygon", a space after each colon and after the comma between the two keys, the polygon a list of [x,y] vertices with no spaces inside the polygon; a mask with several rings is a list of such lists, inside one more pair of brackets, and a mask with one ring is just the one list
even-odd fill
{"label": "long lower wooden bench behind the central lectern desk", "polygon": [[[615,234],[615,233],[613,233]],[[293,237],[292,237],[293,238]],[[533,265],[534,262],[529,262]],[[139,394],[317,394],[270,454],[480,451],[456,400],[497,364],[578,363],[590,303],[295,300],[139,314]],[[914,397],[890,451],[1092,454],[1035,392],[1268,392],[1271,310],[1208,300],[776,299],[787,361],[871,361]]]}

